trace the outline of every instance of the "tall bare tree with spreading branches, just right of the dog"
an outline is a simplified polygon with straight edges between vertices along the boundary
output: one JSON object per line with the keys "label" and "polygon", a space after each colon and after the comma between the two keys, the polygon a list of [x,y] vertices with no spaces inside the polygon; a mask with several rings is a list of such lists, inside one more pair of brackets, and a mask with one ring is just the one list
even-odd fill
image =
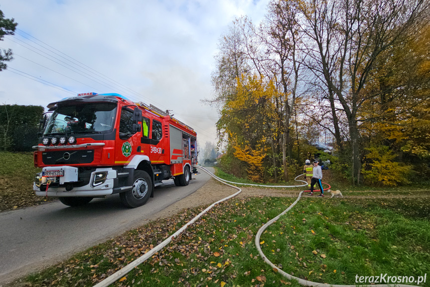
{"label": "tall bare tree with spreading branches, just right of the dog", "polygon": [[357,115],[375,96],[363,89],[381,53],[401,45],[428,7],[428,0],[308,0],[300,5],[308,67],[328,87],[329,99],[333,92],[348,119],[353,184],[360,182],[361,165]]}

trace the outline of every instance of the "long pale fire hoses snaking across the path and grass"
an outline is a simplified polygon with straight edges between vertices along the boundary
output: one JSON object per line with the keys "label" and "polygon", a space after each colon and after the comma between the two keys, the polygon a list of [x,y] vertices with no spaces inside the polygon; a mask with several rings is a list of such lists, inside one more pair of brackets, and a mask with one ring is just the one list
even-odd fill
{"label": "long pale fire hoses snaking across the path and grass", "polygon": [[[302,185],[290,185],[290,186],[275,185],[275,186],[268,186],[268,185],[249,184],[249,183],[238,183],[238,182],[232,182],[232,181],[224,180],[224,179],[221,179],[221,178],[217,177],[216,175],[214,175],[213,173],[211,173],[210,171],[208,171],[204,167],[201,167],[201,166],[196,166],[196,167],[200,168],[201,170],[203,170],[204,172],[206,172],[207,174],[209,174],[211,177],[213,177],[214,179],[218,180],[219,182],[221,182],[221,183],[223,183],[223,184],[225,184],[227,186],[236,188],[239,191],[236,192],[235,194],[231,195],[231,196],[228,196],[226,198],[223,198],[223,199],[221,199],[221,200],[213,203],[212,205],[210,205],[209,207],[207,207],[205,210],[203,210],[201,213],[199,213],[196,217],[194,217],[192,220],[190,220],[187,224],[185,224],[183,227],[181,227],[178,231],[176,231],[172,236],[170,236],[169,238],[167,238],[166,240],[164,240],[163,242],[161,242],[159,245],[155,246],[153,249],[151,249],[150,251],[148,251],[147,253],[145,253],[140,258],[138,258],[135,261],[129,263],[129,265],[125,266],[123,269],[117,271],[116,273],[112,274],[111,276],[109,276],[105,280],[99,282],[94,287],[107,287],[107,286],[113,284],[114,282],[116,282],[117,280],[119,280],[120,278],[122,278],[123,276],[125,276],[126,274],[128,274],[130,271],[132,271],[135,267],[139,266],[140,264],[142,264],[143,262],[145,262],[147,259],[151,258],[156,252],[158,252],[162,248],[164,248],[175,237],[179,236],[183,231],[185,231],[185,229],[188,226],[190,226],[191,224],[193,224],[194,222],[196,222],[202,215],[204,215],[206,212],[208,212],[210,209],[212,209],[212,207],[214,207],[218,203],[221,203],[221,202],[226,201],[226,200],[228,200],[228,199],[230,199],[232,197],[235,197],[235,196],[237,196],[238,194],[240,194],[242,192],[241,188],[233,186],[233,185],[230,185],[227,182],[238,184],[238,185],[250,185],[250,186],[260,186],[260,187],[283,187],[283,188],[291,188],[291,187],[307,186],[307,182],[305,182],[303,180],[298,180],[297,179],[299,176],[303,176],[302,174],[300,174],[300,175],[298,175],[298,176],[296,176],[294,178],[295,181],[303,182],[304,184],[302,184]],[[324,190],[326,190],[326,189],[324,189]],[[272,219],[271,221],[269,221],[268,223],[266,223],[257,232],[257,235],[255,237],[255,245],[257,247],[257,250],[258,250],[260,256],[263,258],[263,260],[267,264],[269,264],[272,268],[276,269],[279,274],[281,274],[282,276],[284,276],[288,280],[296,280],[299,284],[301,284],[303,286],[314,286],[314,287],[356,287],[356,285],[330,285],[330,284],[322,284],[322,283],[307,281],[307,280],[303,280],[303,279],[291,276],[291,275],[287,274],[286,272],[282,271],[281,269],[279,269],[277,266],[275,266],[269,259],[267,259],[267,257],[264,255],[263,251],[261,250],[261,248],[260,248],[260,237],[263,234],[263,232],[270,225],[272,225],[275,221],[277,221],[281,216],[283,216],[284,214],[286,214],[300,200],[302,193],[303,193],[303,191],[301,191],[299,193],[297,199],[284,212],[282,212],[277,217],[275,217],[274,219]],[[419,286],[400,285],[400,284],[393,284],[393,285],[380,284],[380,285],[361,285],[361,286],[368,286],[368,287],[419,287]]]}

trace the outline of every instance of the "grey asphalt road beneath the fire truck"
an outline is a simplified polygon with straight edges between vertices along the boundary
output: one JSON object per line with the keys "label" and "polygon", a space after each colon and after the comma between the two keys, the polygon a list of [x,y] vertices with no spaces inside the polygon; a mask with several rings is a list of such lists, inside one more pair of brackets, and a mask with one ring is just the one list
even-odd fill
{"label": "grey asphalt road beneath the fire truck", "polygon": [[56,201],[0,213],[0,286],[147,223],[209,179],[202,172],[185,187],[165,181],[153,198],[135,209],[123,207],[119,195],[112,195],[82,207]]}

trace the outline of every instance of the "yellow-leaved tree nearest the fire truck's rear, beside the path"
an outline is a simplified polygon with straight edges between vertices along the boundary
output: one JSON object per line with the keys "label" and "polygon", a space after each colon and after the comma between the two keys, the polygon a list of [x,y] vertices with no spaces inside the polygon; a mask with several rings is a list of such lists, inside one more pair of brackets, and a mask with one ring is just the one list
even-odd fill
{"label": "yellow-leaved tree nearest the fire truck's rear, beside the path", "polygon": [[227,149],[246,163],[248,178],[256,182],[265,181],[264,159],[272,153],[270,138],[279,122],[274,104],[277,96],[272,81],[257,74],[242,75],[217,123],[220,138],[227,137]]}

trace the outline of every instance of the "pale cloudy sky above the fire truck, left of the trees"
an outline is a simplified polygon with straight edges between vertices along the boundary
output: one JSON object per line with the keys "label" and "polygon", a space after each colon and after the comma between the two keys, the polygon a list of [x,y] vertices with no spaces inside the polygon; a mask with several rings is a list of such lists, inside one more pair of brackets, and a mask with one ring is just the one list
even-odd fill
{"label": "pale cloudy sky above the fire truck, left of the trees", "polygon": [[[41,105],[82,92],[125,95],[216,142],[210,74],[220,36],[236,17],[254,23],[268,0],[0,0],[18,23],[0,48],[14,59],[0,72],[0,103]],[[42,83],[43,82],[43,83]]]}

